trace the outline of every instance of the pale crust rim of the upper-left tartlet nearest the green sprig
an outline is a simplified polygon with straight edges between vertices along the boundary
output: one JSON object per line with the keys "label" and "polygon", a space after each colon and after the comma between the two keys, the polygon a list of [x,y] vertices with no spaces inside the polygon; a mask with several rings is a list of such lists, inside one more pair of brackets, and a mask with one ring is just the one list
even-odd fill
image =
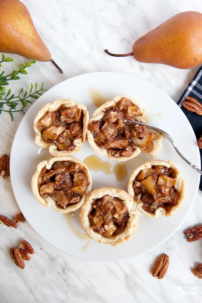
{"label": "pale crust rim of the upper-left tartlet nearest the green sprig", "polygon": [[[48,143],[42,139],[42,132],[38,128],[38,121],[47,113],[47,112],[55,112],[61,106],[64,106],[65,108],[74,106],[83,111],[84,117],[83,117],[83,130],[82,130],[82,136],[79,138],[74,139],[73,144],[75,145],[74,150],[59,150],[58,146],[53,143]],[[42,147],[42,148],[49,148],[49,152],[51,155],[54,156],[68,156],[73,153],[76,153],[77,151],[80,150],[81,146],[87,139],[87,127],[88,127],[88,122],[89,122],[89,113],[87,111],[87,108],[84,105],[78,105],[76,102],[70,99],[59,99],[55,100],[54,102],[47,103],[44,105],[38,114],[36,115],[34,119],[34,130],[35,130],[35,143]]]}

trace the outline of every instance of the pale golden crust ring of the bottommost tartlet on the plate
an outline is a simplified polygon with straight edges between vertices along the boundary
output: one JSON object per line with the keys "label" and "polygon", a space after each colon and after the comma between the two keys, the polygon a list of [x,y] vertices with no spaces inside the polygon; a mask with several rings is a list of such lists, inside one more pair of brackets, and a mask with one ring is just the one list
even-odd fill
{"label": "pale golden crust ring of the bottommost tartlet on the plate", "polygon": [[[91,228],[90,221],[88,219],[88,215],[93,209],[92,205],[95,203],[95,201],[97,201],[97,199],[101,199],[106,195],[120,199],[124,203],[129,215],[125,230],[118,235],[112,234],[109,238],[106,238],[97,231],[94,231],[94,229]],[[112,246],[118,246],[125,241],[130,240],[134,235],[138,224],[138,212],[134,208],[133,199],[130,197],[130,195],[128,195],[127,192],[120,188],[102,187],[91,191],[81,207],[79,216],[81,226],[89,238],[103,244],[111,244]]]}

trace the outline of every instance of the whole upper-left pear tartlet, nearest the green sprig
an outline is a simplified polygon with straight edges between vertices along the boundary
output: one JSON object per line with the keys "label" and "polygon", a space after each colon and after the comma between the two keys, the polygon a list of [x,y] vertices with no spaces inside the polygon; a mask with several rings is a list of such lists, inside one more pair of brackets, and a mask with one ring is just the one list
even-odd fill
{"label": "whole upper-left pear tartlet, nearest the green sprig", "polygon": [[44,105],[34,119],[35,143],[54,156],[80,150],[87,139],[89,113],[84,105],[59,99]]}

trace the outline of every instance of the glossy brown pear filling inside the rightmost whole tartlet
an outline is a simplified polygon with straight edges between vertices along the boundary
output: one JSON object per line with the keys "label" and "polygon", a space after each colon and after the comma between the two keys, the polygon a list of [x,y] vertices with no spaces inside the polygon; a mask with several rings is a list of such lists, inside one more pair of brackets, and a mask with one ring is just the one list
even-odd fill
{"label": "glossy brown pear filling inside the rightmost whole tartlet", "polygon": [[159,207],[169,211],[180,199],[175,177],[174,170],[163,165],[141,170],[133,181],[134,200],[143,202],[143,209],[151,214]]}

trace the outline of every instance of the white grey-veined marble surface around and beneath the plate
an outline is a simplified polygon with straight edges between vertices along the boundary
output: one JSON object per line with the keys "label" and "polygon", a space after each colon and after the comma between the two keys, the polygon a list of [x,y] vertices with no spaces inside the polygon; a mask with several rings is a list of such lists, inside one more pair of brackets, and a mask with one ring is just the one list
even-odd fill
{"label": "white grey-veined marble surface around and beneath the plate", "polygon": [[[37,62],[28,69],[28,75],[11,83],[13,91],[18,92],[21,87],[29,89],[30,83],[36,81],[38,85],[44,81],[48,89],[75,75],[113,71],[142,78],[177,102],[198,70],[198,67],[180,70],[145,64],[133,57],[113,58],[104,49],[131,52],[138,37],[171,16],[188,10],[201,12],[199,0],[22,2],[64,73],[60,75],[50,62]],[[11,56],[14,62],[5,63],[5,70],[27,62],[21,56]],[[10,155],[22,117],[21,113],[15,114],[11,122],[7,113],[0,115],[1,155]],[[0,214],[13,218],[19,208],[10,177],[0,178],[0,186]],[[166,242],[145,255],[116,262],[92,262],[66,255],[42,239],[28,222],[17,229],[1,224],[0,302],[201,302],[201,280],[191,272],[202,263],[201,240],[188,243],[184,236],[187,228],[202,223],[201,201],[202,193],[198,191],[189,215]],[[18,247],[23,238],[35,249],[31,261],[25,261],[24,270],[15,266],[9,255],[9,248]],[[158,280],[152,277],[151,267],[161,253],[169,255],[170,265],[164,279]]]}

